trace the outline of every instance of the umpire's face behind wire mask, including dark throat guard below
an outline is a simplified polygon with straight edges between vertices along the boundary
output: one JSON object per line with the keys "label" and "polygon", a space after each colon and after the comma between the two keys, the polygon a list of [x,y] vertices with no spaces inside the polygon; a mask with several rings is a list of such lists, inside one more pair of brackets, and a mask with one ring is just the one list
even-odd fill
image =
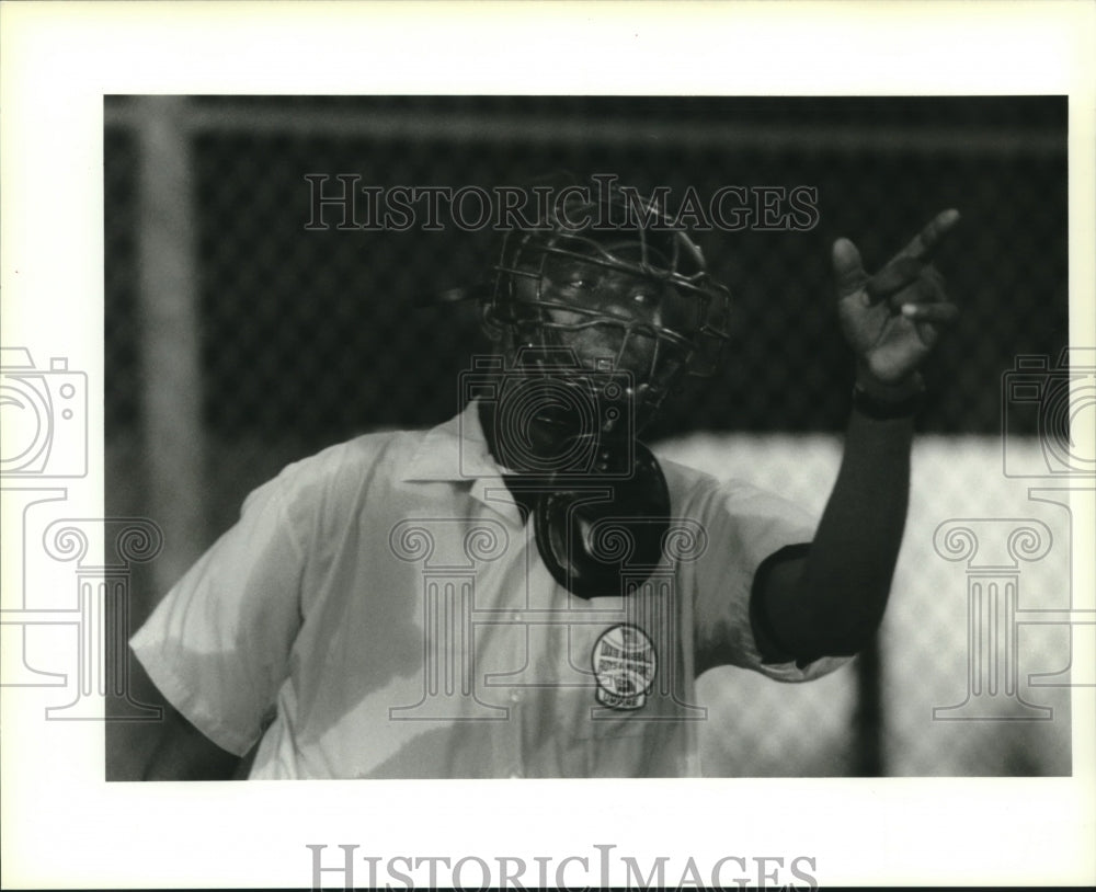
{"label": "umpire's face behind wire mask, including dark throat guard below", "polygon": [[685,324],[686,301],[575,258],[552,258],[517,290],[537,322],[509,357],[490,420],[496,457],[517,471],[511,485],[524,489],[556,580],[580,597],[616,595],[626,567],[635,581],[662,559],[670,494],[637,434],[651,385],[680,370],[659,332]]}

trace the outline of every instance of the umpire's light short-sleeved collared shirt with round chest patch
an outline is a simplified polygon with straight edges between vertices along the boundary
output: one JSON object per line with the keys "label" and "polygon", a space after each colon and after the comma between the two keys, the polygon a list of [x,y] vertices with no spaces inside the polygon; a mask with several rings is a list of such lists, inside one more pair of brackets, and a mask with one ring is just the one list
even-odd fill
{"label": "umpire's light short-sleeved collared shirt with round chest patch", "polygon": [[[583,599],[551,576],[475,404],[287,467],[168,593],[132,647],[252,778],[699,773],[697,653],[799,682],[751,631],[761,562],[813,524],[661,462],[673,535],[644,579]],[[627,575],[627,574],[626,574]]]}

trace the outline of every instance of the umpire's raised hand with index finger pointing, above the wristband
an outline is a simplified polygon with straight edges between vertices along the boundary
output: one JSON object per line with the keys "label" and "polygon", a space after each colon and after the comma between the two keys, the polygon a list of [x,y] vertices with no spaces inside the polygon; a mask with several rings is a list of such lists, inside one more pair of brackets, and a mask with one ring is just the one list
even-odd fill
{"label": "umpire's raised hand with index finger pointing, above the wristband", "polygon": [[929,263],[933,250],[958,220],[958,210],[937,214],[872,276],[864,271],[853,242],[834,242],[837,313],[857,356],[861,387],[877,392],[921,388],[917,369],[940,330],[959,312],[945,294],[943,276]]}

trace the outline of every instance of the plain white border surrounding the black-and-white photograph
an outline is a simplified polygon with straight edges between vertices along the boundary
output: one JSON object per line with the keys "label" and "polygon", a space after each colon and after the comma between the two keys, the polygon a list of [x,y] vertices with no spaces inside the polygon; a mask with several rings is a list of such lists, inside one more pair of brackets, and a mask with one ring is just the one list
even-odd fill
{"label": "plain white border surrounding the black-and-white photograph", "polygon": [[[1086,2],[3,4],[3,341],[87,371],[89,473],[69,501],[103,516],[106,94],[870,93],[1069,95],[1081,344],[1096,330],[1094,22]],[[1074,591],[1092,585],[1078,561]],[[810,856],[823,885],[1092,882],[1093,699],[1074,690],[1071,778],[142,785],[103,780],[102,723],[47,723],[33,691],[5,689],[2,884],[307,887],[309,844]]]}

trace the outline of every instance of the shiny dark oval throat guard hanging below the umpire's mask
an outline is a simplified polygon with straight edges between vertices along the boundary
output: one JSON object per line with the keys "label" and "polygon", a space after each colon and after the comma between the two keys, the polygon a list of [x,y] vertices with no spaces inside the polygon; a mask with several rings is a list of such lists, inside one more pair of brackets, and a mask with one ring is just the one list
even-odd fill
{"label": "shiny dark oval throat guard hanging below the umpire's mask", "polygon": [[614,444],[598,465],[600,473],[582,478],[550,476],[533,506],[549,572],[587,599],[625,595],[648,579],[670,529],[670,491],[650,449],[638,441]]}

